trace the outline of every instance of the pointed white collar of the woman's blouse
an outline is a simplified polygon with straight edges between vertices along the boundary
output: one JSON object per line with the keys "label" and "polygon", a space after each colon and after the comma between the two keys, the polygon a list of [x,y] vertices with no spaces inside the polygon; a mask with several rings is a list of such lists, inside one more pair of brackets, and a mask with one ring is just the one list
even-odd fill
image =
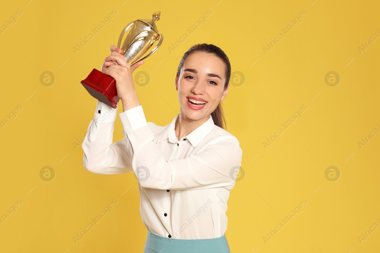
{"label": "pointed white collar of the woman's blouse", "polygon": [[[169,123],[168,125],[166,125],[164,127],[163,131],[158,136],[156,143],[159,143],[159,142],[166,140],[168,138],[169,138],[169,141],[171,143],[177,143],[178,142],[178,139],[176,137],[176,132],[174,130],[174,127],[176,125],[176,121],[177,121],[178,117],[179,117],[179,114],[177,114],[174,117],[174,119],[171,121],[171,123]],[[201,142],[204,139],[204,137],[206,137],[206,135],[211,132],[211,130],[214,128],[214,126],[215,126],[214,120],[212,119],[212,116],[210,114],[210,118],[207,119],[206,122],[204,122],[199,127],[194,129],[190,134],[187,134],[182,138],[183,139],[186,138],[187,140],[189,140],[190,143],[195,148],[195,146],[198,145],[198,143]],[[191,130],[191,128],[192,128],[191,125],[187,126],[188,130]]]}

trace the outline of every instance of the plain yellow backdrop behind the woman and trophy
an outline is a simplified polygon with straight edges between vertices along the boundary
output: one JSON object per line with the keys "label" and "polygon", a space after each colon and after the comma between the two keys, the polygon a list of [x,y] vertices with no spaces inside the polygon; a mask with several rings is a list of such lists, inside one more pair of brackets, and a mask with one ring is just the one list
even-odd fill
{"label": "plain yellow backdrop behind the woman and trophy", "polygon": [[[380,226],[380,134],[362,148],[358,142],[380,130],[380,39],[364,52],[358,47],[374,33],[380,36],[379,7],[378,1],[358,0],[2,3],[1,25],[17,10],[22,14],[0,35],[0,120],[19,104],[22,109],[0,130],[0,214],[17,200],[22,204],[0,225],[0,251],[142,252],[147,229],[137,179],[86,171],[83,150],[73,142],[86,134],[96,105],[80,81],[100,69],[126,24],[161,11],[163,44],[133,73],[145,71],[151,79],[147,86],[136,85],[148,121],[165,126],[179,113],[174,78],[193,44],[217,45],[232,71],[245,77],[241,85],[242,75],[231,76],[237,85],[223,102],[246,173],[228,201],[231,252],[375,252],[380,228],[362,243],[358,237],[374,223]],[[112,22],[74,53],[114,9]],[[170,53],[168,47],[209,9],[206,23]],[[302,10],[307,15],[284,35],[281,29]],[[264,53],[279,33],[284,37]],[[40,83],[44,71],[54,74],[52,86]],[[341,79],[334,87],[325,83],[329,71]],[[264,148],[266,138],[302,105],[302,117]],[[122,137],[117,118],[114,141]],[[56,173],[50,182],[40,178],[44,166]],[[337,181],[325,178],[329,166],[339,169]],[[76,233],[112,200],[112,212],[75,244]],[[302,212],[283,223],[302,200]],[[265,243],[263,237],[279,223],[284,227]]]}

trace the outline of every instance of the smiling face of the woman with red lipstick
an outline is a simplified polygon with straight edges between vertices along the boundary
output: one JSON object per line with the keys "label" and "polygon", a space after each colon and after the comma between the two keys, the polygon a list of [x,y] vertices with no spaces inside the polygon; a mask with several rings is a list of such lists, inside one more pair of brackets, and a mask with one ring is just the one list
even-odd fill
{"label": "smiling face of the woman with red lipstick", "polygon": [[210,115],[228,93],[230,83],[224,89],[225,82],[220,58],[203,52],[188,55],[175,80],[181,113],[194,120]]}

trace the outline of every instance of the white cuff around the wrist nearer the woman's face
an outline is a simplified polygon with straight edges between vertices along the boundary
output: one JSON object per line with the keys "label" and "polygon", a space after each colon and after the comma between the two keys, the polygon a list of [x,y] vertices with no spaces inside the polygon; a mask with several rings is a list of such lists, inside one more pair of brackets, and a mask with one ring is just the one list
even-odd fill
{"label": "white cuff around the wrist nearer the woman's face", "polygon": [[119,113],[119,118],[123,125],[123,135],[130,134],[133,130],[148,125],[142,105]]}

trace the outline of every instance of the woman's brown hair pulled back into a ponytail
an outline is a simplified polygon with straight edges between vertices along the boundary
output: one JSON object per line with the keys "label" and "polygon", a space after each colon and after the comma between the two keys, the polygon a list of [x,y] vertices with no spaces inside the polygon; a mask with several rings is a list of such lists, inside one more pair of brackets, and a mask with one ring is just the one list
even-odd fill
{"label": "woman's brown hair pulled back into a ponytail", "polygon": [[[215,55],[216,57],[218,57],[220,60],[223,61],[224,66],[225,66],[225,77],[226,77],[224,89],[226,89],[228,86],[228,83],[230,82],[230,77],[231,77],[230,60],[228,59],[227,55],[222,49],[220,49],[219,47],[213,44],[202,43],[202,44],[195,44],[194,46],[190,47],[190,49],[188,49],[182,56],[182,59],[179,63],[178,70],[177,70],[177,77],[179,77],[180,69],[184,65],[186,57],[188,57],[191,53],[195,53],[195,52],[209,53],[209,54]],[[215,125],[226,130],[226,119],[223,113],[223,107],[221,103],[222,101],[219,102],[216,109],[211,113],[211,117],[214,120]]]}

